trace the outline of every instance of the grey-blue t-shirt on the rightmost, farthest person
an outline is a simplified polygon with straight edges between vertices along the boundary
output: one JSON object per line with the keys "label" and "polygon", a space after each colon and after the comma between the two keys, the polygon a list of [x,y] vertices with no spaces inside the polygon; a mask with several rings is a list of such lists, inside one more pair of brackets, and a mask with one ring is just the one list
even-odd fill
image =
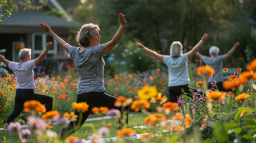
{"label": "grey-blue t-shirt on the rightmost, farthest person", "polygon": [[[223,75],[222,75],[222,61],[223,61],[223,57],[224,55],[220,55],[214,58],[210,58],[207,56],[203,56],[203,61],[206,65],[209,65],[210,67],[212,67],[215,72],[214,72],[214,77],[216,82],[223,82]],[[210,76],[210,78],[208,79],[209,82],[213,82],[214,78],[213,76]]]}

